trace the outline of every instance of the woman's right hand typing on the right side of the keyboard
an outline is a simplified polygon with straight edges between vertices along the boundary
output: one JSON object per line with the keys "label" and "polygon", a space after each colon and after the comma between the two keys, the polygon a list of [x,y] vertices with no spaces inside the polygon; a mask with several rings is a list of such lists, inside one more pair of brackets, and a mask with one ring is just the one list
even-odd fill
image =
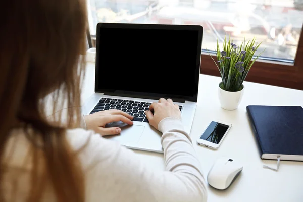
{"label": "woman's right hand typing on the right side of the keyboard", "polygon": [[[158,103],[151,103],[149,107],[150,111],[145,111],[146,118],[151,126],[154,126],[158,130],[158,124],[160,121],[167,117],[176,117],[181,119],[181,112],[179,106],[173,103],[171,99],[161,98]],[[154,114],[151,112],[154,111]]]}

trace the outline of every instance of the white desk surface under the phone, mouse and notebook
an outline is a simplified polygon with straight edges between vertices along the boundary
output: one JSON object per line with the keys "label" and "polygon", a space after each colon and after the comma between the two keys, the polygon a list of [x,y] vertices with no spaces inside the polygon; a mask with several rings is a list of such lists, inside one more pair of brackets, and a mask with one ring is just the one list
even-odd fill
{"label": "white desk surface under the phone, mouse and notebook", "polygon": [[[113,76],[113,81],[114,79]],[[221,156],[240,161],[244,168],[227,190],[219,191],[208,185],[208,201],[303,201],[303,162],[281,161],[278,172],[262,168],[263,164],[275,167],[277,161],[260,159],[245,109],[247,105],[301,106],[303,91],[244,82],[244,96],[238,109],[227,111],[220,107],[218,100],[217,86],[220,79],[200,75],[197,109],[190,136],[205,178],[214,161]],[[82,89],[83,100],[94,92],[94,64],[92,63],[87,64],[86,80]],[[218,150],[196,144],[196,139],[212,119],[233,124]],[[148,166],[164,170],[162,154],[134,151]]]}

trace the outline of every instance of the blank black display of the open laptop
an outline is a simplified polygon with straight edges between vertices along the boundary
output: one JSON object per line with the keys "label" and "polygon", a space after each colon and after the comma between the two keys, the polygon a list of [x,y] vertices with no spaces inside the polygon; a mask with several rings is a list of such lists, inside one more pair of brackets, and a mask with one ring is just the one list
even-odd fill
{"label": "blank black display of the open laptop", "polygon": [[97,90],[194,96],[197,30],[99,29]]}

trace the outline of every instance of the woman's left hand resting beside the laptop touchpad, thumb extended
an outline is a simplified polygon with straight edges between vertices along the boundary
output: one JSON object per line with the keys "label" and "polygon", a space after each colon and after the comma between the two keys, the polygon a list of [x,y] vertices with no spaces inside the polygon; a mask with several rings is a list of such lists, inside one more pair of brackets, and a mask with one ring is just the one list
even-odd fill
{"label": "woman's left hand resting beside the laptop touchpad, thumb extended", "polygon": [[102,136],[105,135],[116,135],[121,132],[119,127],[105,128],[105,125],[112,122],[122,121],[126,124],[132,125],[131,121],[133,117],[126,112],[121,110],[106,110],[100,111],[93,114],[85,115],[84,120],[87,130],[94,130]]}

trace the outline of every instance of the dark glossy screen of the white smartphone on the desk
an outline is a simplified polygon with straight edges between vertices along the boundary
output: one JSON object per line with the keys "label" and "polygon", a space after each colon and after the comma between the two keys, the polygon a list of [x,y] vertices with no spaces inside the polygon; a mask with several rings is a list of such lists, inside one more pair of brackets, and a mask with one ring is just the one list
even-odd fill
{"label": "dark glossy screen of the white smartphone on the desk", "polygon": [[228,128],[228,125],[212,121],[204,133],[201,135],[200,139],[219,144]]}

